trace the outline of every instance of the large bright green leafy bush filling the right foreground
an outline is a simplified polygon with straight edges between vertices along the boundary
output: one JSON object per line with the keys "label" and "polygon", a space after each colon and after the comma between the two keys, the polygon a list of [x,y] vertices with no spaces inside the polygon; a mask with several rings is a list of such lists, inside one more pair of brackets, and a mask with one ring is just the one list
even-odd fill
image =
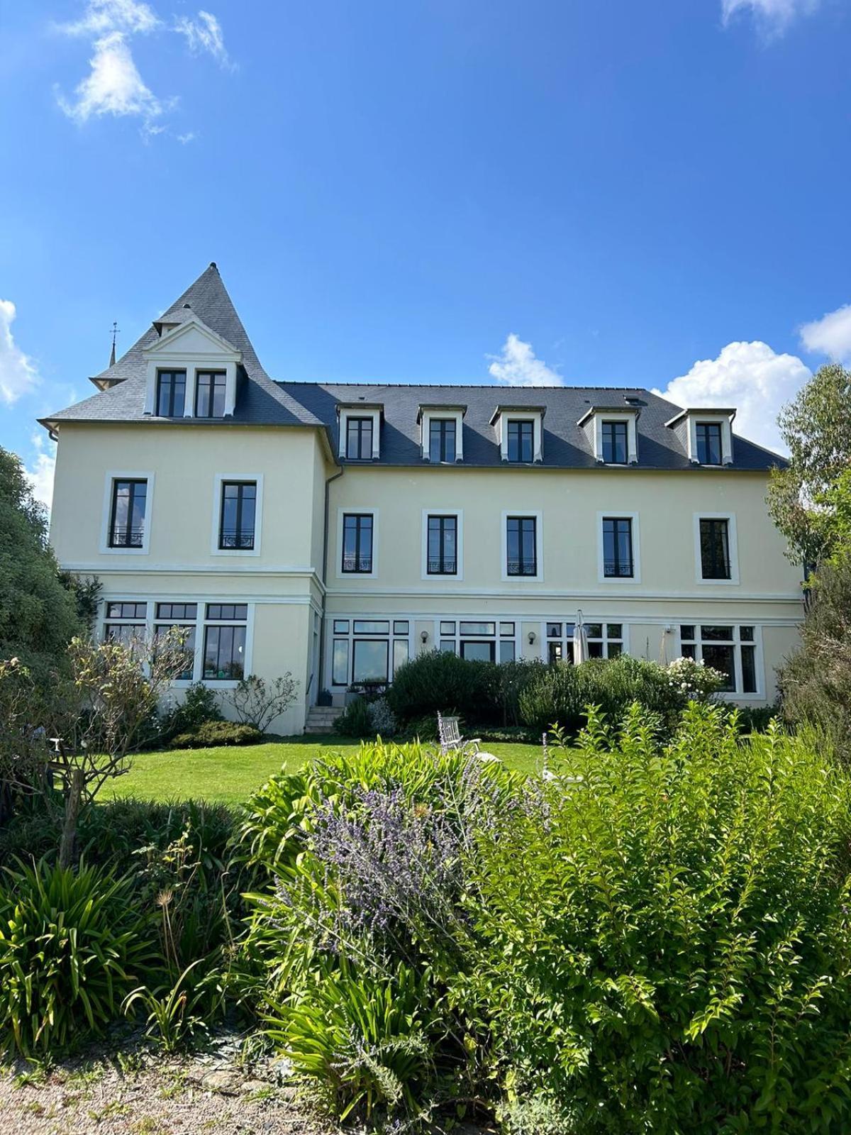
{"label": "large bright green leafy bush filling the right foreground", "polygon": [[638,706],[620,735],[592,713],[555,771],[469,861],[452,997],[509,1099],[589,1135],[846,1129],[844,773],[697,704],[664,749]]}

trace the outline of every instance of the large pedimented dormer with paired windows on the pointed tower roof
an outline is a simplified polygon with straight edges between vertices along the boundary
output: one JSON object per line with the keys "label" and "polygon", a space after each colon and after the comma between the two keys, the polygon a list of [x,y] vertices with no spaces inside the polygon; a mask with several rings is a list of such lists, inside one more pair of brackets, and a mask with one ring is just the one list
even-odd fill
{"label": "large pedimented dormer with paired windows on the pointed tower roof", "polygon": [[152,418],[228,418],[236,407],[242,352],[204,323],[188,304],[154,325],[142,352],[148,365],[144,413]]}

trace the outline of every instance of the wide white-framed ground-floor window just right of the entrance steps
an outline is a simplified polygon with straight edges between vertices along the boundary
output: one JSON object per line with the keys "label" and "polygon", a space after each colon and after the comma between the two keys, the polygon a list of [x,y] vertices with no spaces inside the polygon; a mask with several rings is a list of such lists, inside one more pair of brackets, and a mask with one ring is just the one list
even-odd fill
{"label": "wide white-framed ground-floor window just right of the entrance steps", "polygon": [[335,619],[331,684],[381,686],[410,656],[407,619]]}

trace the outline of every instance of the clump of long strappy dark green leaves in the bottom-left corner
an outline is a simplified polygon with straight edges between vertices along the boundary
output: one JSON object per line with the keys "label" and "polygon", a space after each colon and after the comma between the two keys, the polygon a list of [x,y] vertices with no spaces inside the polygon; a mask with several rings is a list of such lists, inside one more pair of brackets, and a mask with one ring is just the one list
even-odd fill
{"label": "clump of long strappy dark green leaves in the bottom-left corner", "polygon": [[0,876],[0,1035],[25,1056],[99,1033],[154,962],[132,882],[44,860]]}

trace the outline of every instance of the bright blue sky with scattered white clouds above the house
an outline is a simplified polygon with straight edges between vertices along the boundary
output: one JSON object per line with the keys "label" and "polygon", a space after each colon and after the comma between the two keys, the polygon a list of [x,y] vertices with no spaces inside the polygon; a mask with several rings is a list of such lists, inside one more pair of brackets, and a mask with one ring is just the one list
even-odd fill
{"label": "bright blue sky with scattered white clouds above the house", "polygon": [[0,444],[216,260],[280,379],[643,385],[851,358],[846,0],[0,0]]}

